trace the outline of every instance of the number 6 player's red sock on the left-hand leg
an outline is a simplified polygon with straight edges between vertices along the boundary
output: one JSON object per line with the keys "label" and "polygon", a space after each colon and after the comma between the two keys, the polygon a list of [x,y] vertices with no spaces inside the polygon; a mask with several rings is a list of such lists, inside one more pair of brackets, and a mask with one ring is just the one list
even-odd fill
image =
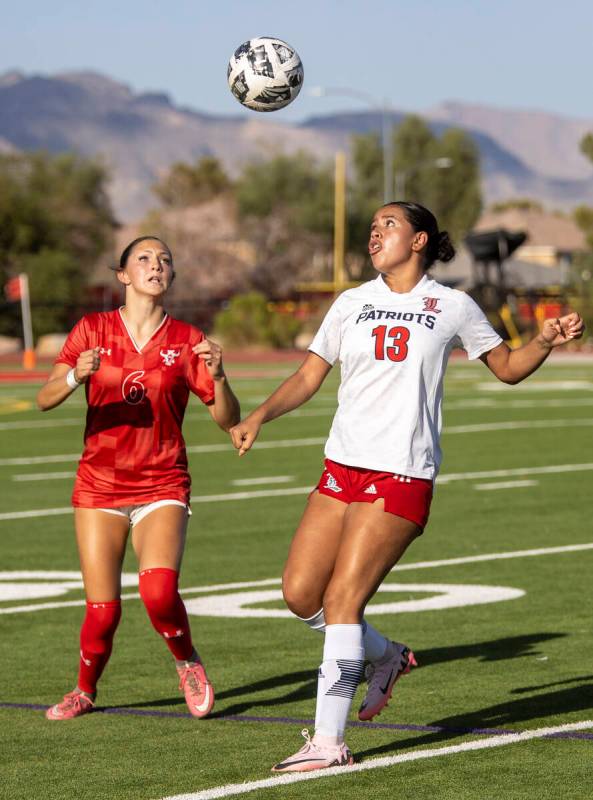
{"label": "number 6 player's red sock on the left-hand leg", "polygon": [[80,666],[78,688],[94,694],[97,681],[111,655],[113,637],[121,618],[121,601],[90,603],[80,629]]}

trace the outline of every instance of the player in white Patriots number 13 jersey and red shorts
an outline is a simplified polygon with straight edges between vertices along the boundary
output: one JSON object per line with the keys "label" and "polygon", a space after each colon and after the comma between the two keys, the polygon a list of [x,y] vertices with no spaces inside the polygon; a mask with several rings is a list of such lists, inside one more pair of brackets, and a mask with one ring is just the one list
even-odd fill
{"label": "player in white Patriots number 13 jersey and red shorts", "polygon": [[299,369],[231,428],[242,455],[264,422],[309,400],[340,362],[325,469],[293,538],[282,582],[291,611],[325,632],[315,735],[303,731],[305,745],[276,764],[275,772],[351,764],[344,729],[365,658],[362,720],[385,707],[395,681],[415,665],[411,650],[374,630],[363,613],[426,525],[441,460],[443,377],[453,348],[462,347],[501,381],[515,384],[554,347],[583,332],[576,313],[547,319],[532,341],[511,351],[468,295],[426,274],[455,251],[434,215],[415,203],[377,211],[369,253],[377,278],[337,298]]}

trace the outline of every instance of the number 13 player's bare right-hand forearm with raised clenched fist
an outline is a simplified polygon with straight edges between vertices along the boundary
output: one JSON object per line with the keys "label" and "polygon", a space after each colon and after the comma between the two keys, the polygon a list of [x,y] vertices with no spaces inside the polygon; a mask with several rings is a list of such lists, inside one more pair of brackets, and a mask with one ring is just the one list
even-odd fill
{"label": "number 13 player's bare right-hand forearm with raised clenched fist", "polygon": [[555,347],[580,339],[584,330],[583,320],[576,312],[554,317],[545,320],[540,333],[523,347],[511,350],[502,343],[481,359],[499,380],[519,383],[535,372]]}

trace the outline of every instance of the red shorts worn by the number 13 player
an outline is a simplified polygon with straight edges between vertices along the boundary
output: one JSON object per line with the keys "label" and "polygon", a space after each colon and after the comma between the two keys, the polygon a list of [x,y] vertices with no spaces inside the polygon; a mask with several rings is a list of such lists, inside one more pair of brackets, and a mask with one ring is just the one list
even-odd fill
{"label": "red shorts worn by the number 13 player", "polygon": [[316,486],[320,494],[343,503],[374,503],[383,498],[384,508],[424,528],[432,500],[432,481],[409,478],[393,472],[347,467],[326,458],[325,469]]}

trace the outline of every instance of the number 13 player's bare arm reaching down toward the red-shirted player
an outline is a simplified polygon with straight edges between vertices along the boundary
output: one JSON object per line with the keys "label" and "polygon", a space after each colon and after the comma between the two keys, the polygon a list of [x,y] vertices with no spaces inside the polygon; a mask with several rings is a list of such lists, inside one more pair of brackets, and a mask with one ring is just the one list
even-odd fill
{"label": "number 13 player's bare arm reaching down toward the red-shirted player", "polygon": [[295,373],[280,384],[276,391],[239,425],[231,428],[231,439],[239,455],[242,456],[251,448],[264,422],[281,417],[282,414],[287,414],[310,400],[330,369],[331,364],[323,358],[315,353],[308,353]]}

